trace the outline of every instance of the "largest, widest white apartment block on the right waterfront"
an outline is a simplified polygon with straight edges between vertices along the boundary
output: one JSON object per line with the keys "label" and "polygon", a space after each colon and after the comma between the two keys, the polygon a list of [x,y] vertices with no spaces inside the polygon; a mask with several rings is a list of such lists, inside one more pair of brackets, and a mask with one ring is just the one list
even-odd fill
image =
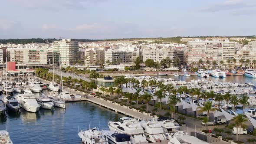
{"label": "largest, widest white apartment block on the right waterfront", "polygon": [[203,60],[203,65],[206,65],[207,60],[212,65],[213,61],[217,62],[217,66],[220,66],[220,61],[223,61],[223,65],[228,65],[227,59],[232,59],[235,55],[235,42],[226,41],[208,41],[197,40],[187,43],[187,64],[190,66],[192,62],[195,64],[200,59]]}

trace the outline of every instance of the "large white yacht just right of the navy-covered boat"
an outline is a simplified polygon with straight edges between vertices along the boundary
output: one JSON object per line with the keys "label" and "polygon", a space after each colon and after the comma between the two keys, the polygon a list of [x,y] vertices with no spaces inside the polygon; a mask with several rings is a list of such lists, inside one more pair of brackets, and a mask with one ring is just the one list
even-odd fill
{"label": "large white yacht just right of the navy-covered boat", "polygon": [[130,135],[131,137],[131,144],[147,144],[148,141],[146,140],[146,136],[144,135],[143,128],[141,124],[134,119],[123,117],[120,118],[121,121],[109,121],[108,127],[111,131],[117,131],[121,133],[125,133]]}

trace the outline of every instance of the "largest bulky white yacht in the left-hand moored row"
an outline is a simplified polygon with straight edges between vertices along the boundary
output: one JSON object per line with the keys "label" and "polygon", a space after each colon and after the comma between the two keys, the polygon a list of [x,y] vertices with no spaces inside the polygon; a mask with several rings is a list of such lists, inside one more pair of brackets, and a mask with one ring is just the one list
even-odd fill
{"label": "largest bulky white yacht in the left-hand moored row", "polygon": [[37,103],[35,95],[31,93],[24,93],[16,95],[22,108],[26,111],[36,112],[39,110],[40,105]]}

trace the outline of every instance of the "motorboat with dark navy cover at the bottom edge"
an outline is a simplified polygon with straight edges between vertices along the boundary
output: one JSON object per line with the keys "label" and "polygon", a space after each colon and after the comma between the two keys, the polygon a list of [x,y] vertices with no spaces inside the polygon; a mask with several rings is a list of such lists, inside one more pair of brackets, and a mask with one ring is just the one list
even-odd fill
{"label": "motorboat with dark navy cover at the bottom edge", "polygon": [[109,144],[131,144],[131,138],[128,134],[114,131],[104,131]]}

